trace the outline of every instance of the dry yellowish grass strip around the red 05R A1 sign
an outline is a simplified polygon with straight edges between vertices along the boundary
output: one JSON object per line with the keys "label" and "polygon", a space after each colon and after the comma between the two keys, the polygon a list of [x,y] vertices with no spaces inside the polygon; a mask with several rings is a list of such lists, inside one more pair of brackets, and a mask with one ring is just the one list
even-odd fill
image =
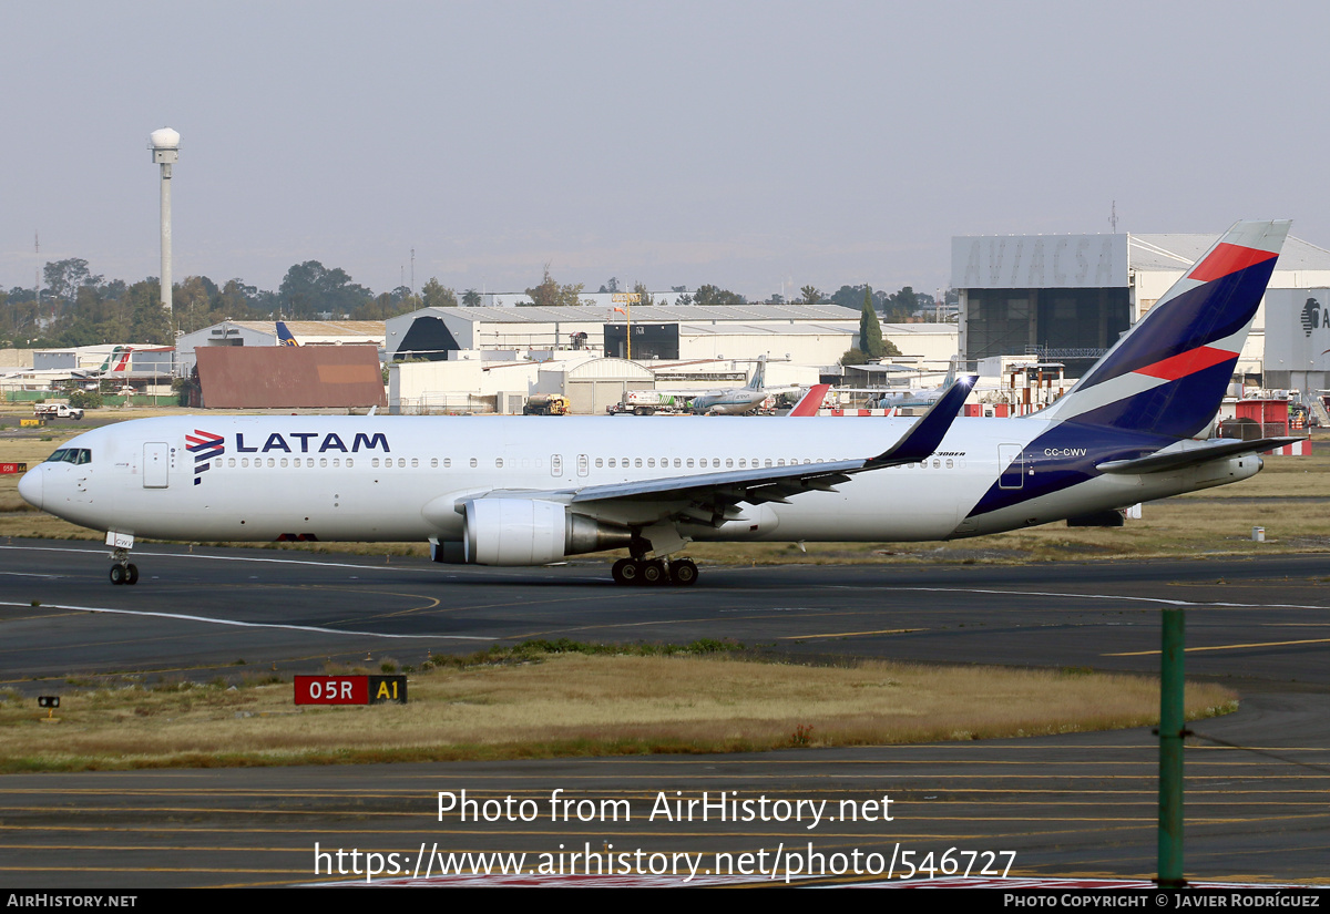
{"label": "dry yellowish grass strip around the red 05R A1 sign", "polygon": [[[11,696],[0,704],[0,771],[761,751],[1067,733],[1158,715],[1156,680],[1084,671],[536,660],[416,674],[407,705],[301,712],[289,683],[181,683],[68,695],[61,723],[41,724],[31,700]],[[1221,687],[1188,686],[1192,717],[1236,707]]]}

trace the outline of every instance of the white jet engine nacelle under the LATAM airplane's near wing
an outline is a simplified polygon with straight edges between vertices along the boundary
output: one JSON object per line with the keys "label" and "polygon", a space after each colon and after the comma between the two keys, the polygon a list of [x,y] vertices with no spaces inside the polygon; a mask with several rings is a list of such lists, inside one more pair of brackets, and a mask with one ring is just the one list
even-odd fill
{"label": "white jet engine nacelle under the LATAM airplane's near wing", "polygon": [[567,555],[626,546],[632,534],[536,498],[480,498],[463,505],[468,565],[549,565]]}

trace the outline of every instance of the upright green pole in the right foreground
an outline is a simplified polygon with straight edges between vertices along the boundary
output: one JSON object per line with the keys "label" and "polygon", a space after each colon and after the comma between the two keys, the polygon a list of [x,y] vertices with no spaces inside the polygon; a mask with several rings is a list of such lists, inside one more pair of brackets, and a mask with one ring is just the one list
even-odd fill
{"label": "upright green pole in the right foreground", "polygon": [[1160,830],[1158,883],[1185,886],[1182,878],[1182,610],[1164,610],[1160,652]]}

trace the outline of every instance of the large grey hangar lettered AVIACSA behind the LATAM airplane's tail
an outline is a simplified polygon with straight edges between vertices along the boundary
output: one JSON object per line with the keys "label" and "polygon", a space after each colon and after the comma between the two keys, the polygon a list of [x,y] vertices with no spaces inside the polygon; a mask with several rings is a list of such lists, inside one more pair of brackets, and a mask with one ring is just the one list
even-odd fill
{"label": "large grey hangar lettered AVIACSA behind the LATAM airplane's tail", "polygon": [[[1218,236],[952,238],[951,284],[960,294],[962,359],[978,365],[1027,355],[1063,363],[1067,377],[1080,377]],[[1330,385],[1330,353],[1322,352],[1330,348],[1327,286],[1330,251],[1290,235],[1237,373],[1266,388]],[[1319,303],[1315,318],[1307,299]],[[1319,348],[1317,340],[1323,340]]]}

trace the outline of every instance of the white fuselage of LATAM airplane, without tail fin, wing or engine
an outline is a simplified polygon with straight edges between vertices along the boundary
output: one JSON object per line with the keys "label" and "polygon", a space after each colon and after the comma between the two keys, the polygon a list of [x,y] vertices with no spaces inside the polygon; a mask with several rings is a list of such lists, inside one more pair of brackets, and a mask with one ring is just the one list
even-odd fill
{"label": "white fuselage of LATAM airplane, without tail fin, wing or engine", "polygon": [[[74,523],[162,539],[458,541],[460,505],[477,497],[564,501],[587,486],[868,457],[908,418],[188,416],[121,422],[73,438],[85,462],[44,462],[28,501]],[[1037,418],[958,418],[923,462],[868,470],[787,503],[739,505],[693,539],[922,541],[996,533],[1246,478],[1257,457],[1173,473],[1093,476],[971,515],[1003,489],[1037,492],[1064,453],[1031,442]],[[202,436],[202,437],[201,437]],[[211,445],[200,448],[200,441]],[[194,450],[190,450],[190,446]],[[1069,449],[1075,450],[1075,449]],[[1105,460],[1116,454],[1105,454]],[[1093,458],[1093,454],[1091,454]],[[1085,460],[1080,449],[1077,460]],[[598,507],[597,507],[598,506]],[[680,501],[573,505],[646,525]],[[668,510],[666,510],[668,509]]]}

